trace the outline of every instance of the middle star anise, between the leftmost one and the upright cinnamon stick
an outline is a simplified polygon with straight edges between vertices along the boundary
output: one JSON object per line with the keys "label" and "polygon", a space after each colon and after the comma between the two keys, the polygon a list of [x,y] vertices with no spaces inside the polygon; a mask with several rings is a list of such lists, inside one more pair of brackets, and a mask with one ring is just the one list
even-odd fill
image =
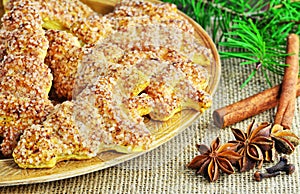
{"label": "middle star anise, between the leftmost one and the upright cinnamon stick", "polygon": [[237,152],[243,156],[237,163],[240,172],[249,171],[256,165],[258,168],[262,167],[264,154],[273,147],[273,140],[270,137],[271,126],[268,122],[256,125],[253,121],[246,132],[232,128],[236,140],[229,142],[237,144]]}

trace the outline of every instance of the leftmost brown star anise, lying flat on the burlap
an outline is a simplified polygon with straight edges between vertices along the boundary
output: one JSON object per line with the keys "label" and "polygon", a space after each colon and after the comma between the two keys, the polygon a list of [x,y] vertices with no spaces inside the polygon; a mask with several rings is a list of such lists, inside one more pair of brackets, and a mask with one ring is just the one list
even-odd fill
{"label": "leftmost brown star anise, lying flat on the burlap", "polygon": [[210,182],[216,181],[220,171],[226,174],[234,173],[232,163],[241,159],[241,155],[236,153],[236,145],[226,143],[220,145],[220,139],[212,141],[210,148],[204,144],[197,146],[201,155],[196,156],[188,167],[197,169],[196,173],[206,177]]}

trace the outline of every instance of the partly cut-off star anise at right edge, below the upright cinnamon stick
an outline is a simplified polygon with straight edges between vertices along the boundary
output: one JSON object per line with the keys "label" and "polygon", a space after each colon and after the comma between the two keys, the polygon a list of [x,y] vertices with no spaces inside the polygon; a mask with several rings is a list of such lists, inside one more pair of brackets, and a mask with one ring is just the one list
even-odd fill
{"label": "partly cut-off star anise at right edge, below the upright cinnamon stick", "polygon": [[276,151],[283,154],[291,154],[300,144],[300,138],[291,130],[285,130],[281,125],[275,124],[270,136],[275,141]]}

